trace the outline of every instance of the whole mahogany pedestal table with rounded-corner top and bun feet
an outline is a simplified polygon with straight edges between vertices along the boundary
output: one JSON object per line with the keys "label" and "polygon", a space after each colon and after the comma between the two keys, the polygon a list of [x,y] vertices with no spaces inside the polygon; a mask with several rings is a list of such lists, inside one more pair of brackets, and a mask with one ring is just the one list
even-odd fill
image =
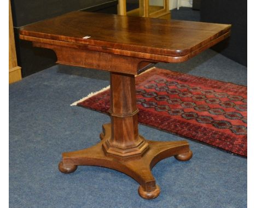
{"label": "whole mahogany pedestal table with rounded-corner top and bun feet", "polygon": [[21,39],[55,51],[57,63],[110,72],[111,123],[98,144],[64,152],[59,170],[112,168],[135,179],[144,199],[158,197],[151,169],[170,156],[190,160],[192,152],[187,141],[156,142],[138,133],[135,75],[152,63],[188,60],[227,38],[230,27],[75,11],[21,28]]}

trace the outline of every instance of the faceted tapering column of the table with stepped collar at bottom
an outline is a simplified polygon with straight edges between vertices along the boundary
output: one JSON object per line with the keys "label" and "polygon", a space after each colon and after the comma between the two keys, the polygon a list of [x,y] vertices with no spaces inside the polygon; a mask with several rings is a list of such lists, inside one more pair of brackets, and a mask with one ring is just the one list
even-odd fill
{"label": "faceted tapering column of the table with stepped collar at bottom", "polygon": [[103,150],[108,156],[120,158],[142,156],[148,143],[138,133],[135,76],[112,72],[110,100],[112,134],[103,143]]}

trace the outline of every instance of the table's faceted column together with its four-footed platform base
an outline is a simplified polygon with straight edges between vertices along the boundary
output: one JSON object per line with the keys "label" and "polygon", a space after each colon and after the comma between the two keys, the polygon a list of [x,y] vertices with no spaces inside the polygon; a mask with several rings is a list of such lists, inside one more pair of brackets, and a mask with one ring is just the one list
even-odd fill
{"label": "table's faceted column together with its four-footed platform base", "polygon": [[187,141],[156,142],[138,133],[135,76],[110,74],[111,124],[103,125],[100,143],[88,149],[64,152],[59,169],[72,173],[77,166],[101,166],[125,173],[139,184],[138,193],[144,199],[158,197],[151,169],[166,157],[187,161],[192,157]]}

